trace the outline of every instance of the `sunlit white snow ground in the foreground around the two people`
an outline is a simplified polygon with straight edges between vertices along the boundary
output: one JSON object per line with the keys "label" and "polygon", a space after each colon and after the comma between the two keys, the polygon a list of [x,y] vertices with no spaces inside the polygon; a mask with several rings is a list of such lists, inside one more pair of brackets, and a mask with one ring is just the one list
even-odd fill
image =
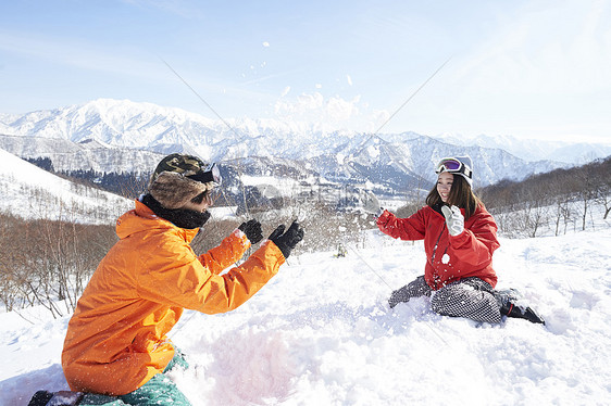
{"label": "sunlit white snow ground in the foreground around the two people", "polygon": [[[479,325],[386,305],[421,275],[422,244],[377,231],[346,257],[289,264],[235,312],[187,312],[172,340],[191,368],[172,378],[194,405],[609,405],[611,224],[562,237],[501,239],[498,288],[516,288],[547,326]],[[68,318],[0,314],[0,403],[66,389]],[[33,325],[24,320],[27,318]]]}

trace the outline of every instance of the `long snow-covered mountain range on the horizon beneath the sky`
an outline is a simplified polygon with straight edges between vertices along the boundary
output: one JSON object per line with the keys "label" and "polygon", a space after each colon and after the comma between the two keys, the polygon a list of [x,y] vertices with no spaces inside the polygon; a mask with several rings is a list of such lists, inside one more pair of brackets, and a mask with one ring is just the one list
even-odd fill
{"label": "long snow-covered mountain range on the horizon beneath the sky", "polygon": [[[264,158],[252,175],[276,175],[273,161],[296,162],[310,175],[386,188],[428,188],[433,165],[469,154],[475,186],[521,180],[565,163],[520,158],[507,150],[448,143],[414,132],[370,135],[273,119],[213,120],[179,109],[99,99],[24,115],[0,115],[0,148],[22,157],[50,157],[58,170],[151,170],[162,154],[187,152],[205,161]],[[294,165],[294,166],[295,166]],[[279,165],[283,170],[285,165]],[[245,170],[246,172],[246,170]],[[285,170],[286,172],[286,170]],[[300,173],[301,177],[307,176]]]}

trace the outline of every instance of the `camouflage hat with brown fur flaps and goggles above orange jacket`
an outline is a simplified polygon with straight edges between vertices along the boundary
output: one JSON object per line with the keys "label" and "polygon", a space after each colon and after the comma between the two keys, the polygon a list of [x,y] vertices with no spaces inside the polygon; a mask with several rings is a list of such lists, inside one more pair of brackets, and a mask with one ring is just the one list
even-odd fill
{"label": "camouflage hat with brown fur flaps and goggles above orange jacket", "polygon": [[197,156],[170,154],[151,176],[149,193],[165,208],[180,208],[191,199],[214,188],[213,182],[200,182],[192,176],[200,175],[207,165]]}

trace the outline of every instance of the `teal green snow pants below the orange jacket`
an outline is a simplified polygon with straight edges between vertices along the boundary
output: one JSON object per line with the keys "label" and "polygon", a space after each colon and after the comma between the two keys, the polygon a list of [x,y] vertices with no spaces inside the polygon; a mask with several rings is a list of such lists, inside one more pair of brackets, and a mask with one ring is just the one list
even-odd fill
{"label": "teal green snow pants below the orange jacket", "polygon": [[126,395],[105,396],[93,393],[85,395],[79,405],[89,406],[150,406],[150,405],[176,405],[190,406],[191,404],[185,395],[178,390],[176,384],[172,382],[165,372],[178,366],[188,368],[189,364],[185,360],[185,356],[178,348],[174,348],[174,358],[167,364],[163,373],[158,373],[150,381]]}

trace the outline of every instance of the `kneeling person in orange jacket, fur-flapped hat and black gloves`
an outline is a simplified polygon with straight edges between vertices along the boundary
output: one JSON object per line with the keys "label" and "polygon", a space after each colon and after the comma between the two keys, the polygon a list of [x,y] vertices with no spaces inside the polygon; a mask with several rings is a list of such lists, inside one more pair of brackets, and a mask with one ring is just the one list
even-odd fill
{"label": "kneeling person in orange jacket, fur-flapped hat and black gloves", "polygon": [[189,404],[163,375],[184,363],[166,338],[183,309],[235,309],[277,274],[303,238],[297,221],[286,232],[280,225],[244,264],[220,275],[263,238],[252,219],[208,253],[194,253],[189,244],[210,217],[211,192],[220,183],[214,164],[171,154],[135,210],[117,219],[120,241],[93,272],[68,323],[62,366],[73,391],[116,396],[99,404]]}

